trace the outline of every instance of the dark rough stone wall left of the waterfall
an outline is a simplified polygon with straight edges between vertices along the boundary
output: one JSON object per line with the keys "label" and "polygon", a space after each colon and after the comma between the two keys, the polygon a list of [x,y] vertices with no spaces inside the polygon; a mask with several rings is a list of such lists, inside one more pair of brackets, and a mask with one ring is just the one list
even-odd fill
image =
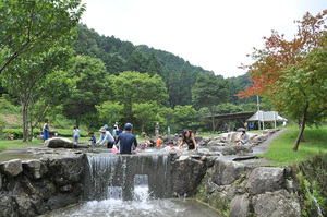
{"label": "dark rough stone wall left of the waterfall", "polygon": [[39,159],[0,164],[0,216],[36,216],[83,198],[85,156],[39,148]]}

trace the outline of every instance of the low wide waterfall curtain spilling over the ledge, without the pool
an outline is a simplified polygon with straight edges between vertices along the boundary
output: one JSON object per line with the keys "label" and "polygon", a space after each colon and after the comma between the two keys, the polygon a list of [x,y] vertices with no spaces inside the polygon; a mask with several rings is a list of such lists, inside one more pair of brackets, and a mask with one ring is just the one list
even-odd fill
{"label": "low wide waterfall curtain spilling over the ledge, without the pool", "polygon": [[121,198],[146,201],[172,196],[168,155],[87,154],[86,201]]}

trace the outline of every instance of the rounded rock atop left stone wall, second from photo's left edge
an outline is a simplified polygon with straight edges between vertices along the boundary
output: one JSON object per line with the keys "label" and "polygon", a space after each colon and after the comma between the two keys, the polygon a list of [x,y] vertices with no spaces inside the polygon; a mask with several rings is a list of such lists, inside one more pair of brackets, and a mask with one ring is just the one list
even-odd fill
{"label": "rounded rock atop left stone wall, second from photo's left edge", "polygon": [[39,179],[48,171],[46,165],[39,159],[24,160],[22,164],[24,173],[33,179]]}

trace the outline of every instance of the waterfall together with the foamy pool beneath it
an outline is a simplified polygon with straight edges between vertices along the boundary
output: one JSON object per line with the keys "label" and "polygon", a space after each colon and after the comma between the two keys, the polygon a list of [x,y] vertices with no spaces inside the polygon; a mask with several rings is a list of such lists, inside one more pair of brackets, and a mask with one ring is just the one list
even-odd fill
{"label": "waterfall together with the foamy pool beneath it", "polygon": [[171,198],[169,155],[87,155],[84,200],[44,217],[219,217],[193,200]]}

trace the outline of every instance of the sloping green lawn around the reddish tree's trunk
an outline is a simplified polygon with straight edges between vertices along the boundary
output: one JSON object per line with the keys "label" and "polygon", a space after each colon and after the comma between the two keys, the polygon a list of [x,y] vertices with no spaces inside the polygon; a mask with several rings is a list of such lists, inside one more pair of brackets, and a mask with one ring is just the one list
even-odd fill
{"label": "sloping green lawn around the reddish tree's trunk", "polygon": [[274,160],[272,165],[275,166],[286,166],[306,160],[315,155],[327,155],[326,132],[327,125],[319,129],[306,126],[303,134],[304,142],[300,142],[298,152],[293,152],[292,148],[299,133],[298,125],[293,125],[270,143],[266,154],[258,156]]}

